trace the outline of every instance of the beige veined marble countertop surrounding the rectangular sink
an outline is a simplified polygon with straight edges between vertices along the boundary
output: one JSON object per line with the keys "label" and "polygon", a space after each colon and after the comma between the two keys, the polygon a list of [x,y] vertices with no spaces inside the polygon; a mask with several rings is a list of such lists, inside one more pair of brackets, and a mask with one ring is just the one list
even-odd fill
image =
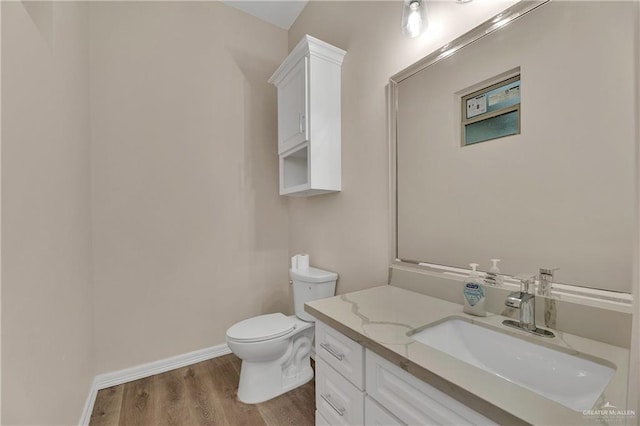
{"label": "beige veined marble countertop surrounding the rectangular sink", "polygon": [[555,331],[544,339],[502,325],[505,317],[476,317],[462,305],[394,286],[374,287],[307,302],[305,310],[319,321],[373,350],[413,375],[428,381],[500,424],[572,425],[624,424],[619,419],[585,416],[524,387],[460,361],[407,337],[407,332],[449,316],[498,328],[510,335],[549,347],[579,352],[613,363],[616,372],[594,410],[609,403],[626,407],[629,351],[625,348]]}

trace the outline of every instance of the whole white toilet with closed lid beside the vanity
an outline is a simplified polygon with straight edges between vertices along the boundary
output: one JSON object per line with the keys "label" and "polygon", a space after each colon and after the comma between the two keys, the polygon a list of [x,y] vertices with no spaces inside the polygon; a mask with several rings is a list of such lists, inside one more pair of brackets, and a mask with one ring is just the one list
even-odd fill
{"label": "whole white toilet with closed lid beside the vanity", "polygon": [[316,268],[290,269],[295,315],[260,315],[227,330],[229,349],[242,360],[238,399],[257,404],[313,378],[309,353],[315,319],[304,303],[335,294],[338,274]]}

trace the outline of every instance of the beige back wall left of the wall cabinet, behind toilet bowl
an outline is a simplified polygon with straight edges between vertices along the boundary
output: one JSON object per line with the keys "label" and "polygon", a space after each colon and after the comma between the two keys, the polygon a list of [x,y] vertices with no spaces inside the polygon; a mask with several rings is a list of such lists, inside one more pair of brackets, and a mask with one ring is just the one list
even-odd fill
{"label": "beige back wall left of the wall cabinet, behind toilet bowl", "polygon": [[276,90],[287,32],[219,2],[90,9],[96,373],[291,312]]}

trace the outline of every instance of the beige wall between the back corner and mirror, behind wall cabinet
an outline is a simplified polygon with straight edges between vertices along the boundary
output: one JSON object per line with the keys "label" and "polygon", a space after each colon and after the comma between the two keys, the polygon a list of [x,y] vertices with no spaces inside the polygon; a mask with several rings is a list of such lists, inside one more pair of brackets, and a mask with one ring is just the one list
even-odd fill
{"label": "beige wall between the back corner and mirror, behind wall cabinet", "polygon": [[391,259],[385,86],[393,74],[515,1],[429,2],[429,29],[400,31],[398,1],[312,1],[289,31],[347,51],[342,66],[342,192],[289,201],[289,249],[340,274],[338,293],[385,284]]}

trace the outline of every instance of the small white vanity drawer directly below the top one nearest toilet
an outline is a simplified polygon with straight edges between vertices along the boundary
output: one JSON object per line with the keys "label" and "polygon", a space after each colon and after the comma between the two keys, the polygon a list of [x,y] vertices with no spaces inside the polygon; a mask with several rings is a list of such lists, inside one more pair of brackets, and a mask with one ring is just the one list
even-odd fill
{"label": "small white vanity drawer directly below the top one nearest toilet", "polygon": [[364,424],[364,392],[322,359],[316,361],[316,409],[330,425]]}

